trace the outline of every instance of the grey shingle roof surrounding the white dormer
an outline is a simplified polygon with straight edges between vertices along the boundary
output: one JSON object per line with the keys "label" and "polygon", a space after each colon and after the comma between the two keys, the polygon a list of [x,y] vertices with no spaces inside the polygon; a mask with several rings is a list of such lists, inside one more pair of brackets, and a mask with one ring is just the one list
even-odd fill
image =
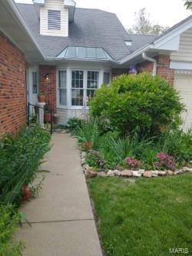
{"label": "grey shingle roof surrounding the white dormer", "polygon": [[67,46],[103,48],[115,61],[131,51],[124,41],[130,40],[118,17],[98,9],[76,8],[74,22],[69,25],[68,38],[40,35],[34,5],[17,4],[22,17],[46,57],[56,57]]}

